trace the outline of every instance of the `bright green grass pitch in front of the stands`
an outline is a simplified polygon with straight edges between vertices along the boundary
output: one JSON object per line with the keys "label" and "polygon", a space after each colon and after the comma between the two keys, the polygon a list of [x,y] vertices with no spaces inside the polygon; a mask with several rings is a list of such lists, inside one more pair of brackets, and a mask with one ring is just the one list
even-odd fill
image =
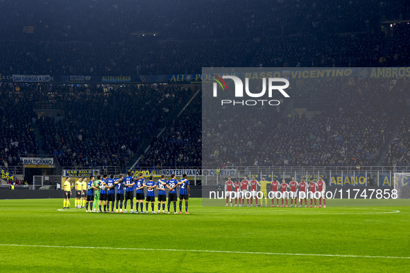
{"label": "bright green grass pitch in front of the stands", "polygon": [[58,211],[62,200],[54,199],[0,200],[0,269],[408,272],[409,200],[378,201],[239,208],[203,207],[191,198],[190,215],[142,215]]}

